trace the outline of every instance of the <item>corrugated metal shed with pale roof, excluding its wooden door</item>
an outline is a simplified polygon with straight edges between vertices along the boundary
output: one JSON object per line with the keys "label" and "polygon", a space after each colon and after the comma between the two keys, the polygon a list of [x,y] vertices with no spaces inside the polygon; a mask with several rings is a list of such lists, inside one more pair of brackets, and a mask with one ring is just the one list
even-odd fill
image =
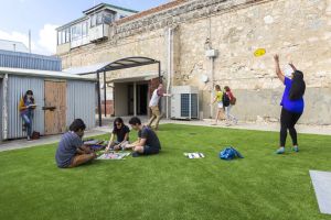
{"label": "corrugated metal shed with pale roof, excluding its wooden door", "polygon": [[[4,78],[2,78],[4,77]],[[96,109],[96,79],[77,75],[71,75],[62,72],[3,68],[0,67],[0,107],[4,108],[0,116],[0,133],[2,140],[24,138],[26,134],[22,131],[22,119],[19,113],[19,101],[24,92],[33,90],[38,108],[34,110],[33,130],[41,134],[45,132],[45,81],[65,81],[66,82],[66,125],[81,118],[87,125],[87,129],[95,127]],[[6,90],[4,90],[6,81]],[[0,138],[1,138],[0,135]],[[0,139],[1,140],[1,139]]]}

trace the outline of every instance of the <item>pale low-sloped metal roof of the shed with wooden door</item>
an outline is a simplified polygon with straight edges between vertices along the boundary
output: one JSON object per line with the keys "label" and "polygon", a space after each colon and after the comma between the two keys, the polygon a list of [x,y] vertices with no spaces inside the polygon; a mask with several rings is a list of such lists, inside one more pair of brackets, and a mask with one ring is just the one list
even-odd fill
{"label": "pale low-sloped metal roof of the shed with wooden door", "polygon": [[65,72],[52,72],[52,70],[39,70],[39,69],[23,69],[23,68],[8,68],[0,67],[0,75],[20,75],[20,76],[34,76],[43,78],[56,78],[56,79],[75,79],[75,80],[88,80],[96,81],[96,78],[88,78],[84,76],[77,76]]}

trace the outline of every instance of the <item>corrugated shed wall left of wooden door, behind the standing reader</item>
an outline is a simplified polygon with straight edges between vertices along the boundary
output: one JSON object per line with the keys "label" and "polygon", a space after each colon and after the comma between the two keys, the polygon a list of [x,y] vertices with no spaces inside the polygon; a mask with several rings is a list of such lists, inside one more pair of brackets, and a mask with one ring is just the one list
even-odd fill
{"label": "corrugated shed wall left of wooden door, behind the standing reader", "polygon": [[21,77],[9,75],[8,78],[8,139],[26,136],[22,131],[22,119],[19,112],[19,101],[25,91],[31,89],[34,95],[35,103],[33,130],[44,134],[44,79],[35,77]]}

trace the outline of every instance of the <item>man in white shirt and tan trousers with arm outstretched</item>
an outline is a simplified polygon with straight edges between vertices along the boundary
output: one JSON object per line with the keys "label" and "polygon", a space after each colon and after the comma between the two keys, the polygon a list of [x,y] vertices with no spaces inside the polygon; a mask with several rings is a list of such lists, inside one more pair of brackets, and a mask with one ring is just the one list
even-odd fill
{"label": "man in white shirt and tan trousers with arm outstretched", "polygon": [[149,121],[147,123],[148,127],[152,128],[152,123],[156,120],[154,130],[159,129],[159,122],[162,118],[162,114],[159,109],[159,101],[160,101],[160,98],[164,97],[164,96],[171,97],[172,95],[166,94],[163,90],[163,85],[159,84],[159,87],[153,91],[152,97],[149,101],[149,108],[152,111],[152,117],[149,119]]}

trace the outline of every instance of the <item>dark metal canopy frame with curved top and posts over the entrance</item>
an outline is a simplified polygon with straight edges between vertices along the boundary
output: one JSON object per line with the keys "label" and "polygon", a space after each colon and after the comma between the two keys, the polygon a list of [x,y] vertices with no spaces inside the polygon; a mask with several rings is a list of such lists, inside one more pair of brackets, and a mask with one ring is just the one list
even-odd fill
{"label": "dark metal canopy frame with curved top and posts over the entrance", "polygon": [[[151,65],[151,64],[158,64],[159,81],[161,82],[161,80],[162,80],[161,79],[161,62],[153,59],[153,58],[149,58],[149,57],[143,57],[143,56],[126,57],[126,58],[117,59],[115,62],[106,64],[105,66],[103,66],[98,69],[95,69],[95,73],[97,75],[99,127],[103,125],[102,97],[100,97],[100,73],[104,73],[104,85],[106,85],[106,73],[107,72],[132,68],[132,67],[138,67],[138,66],[146,66],[146,65]],[[88,74],[90,74],[90,73],[88,73]],[[84,75],[84,74],[82,74],[82,75]],[[105,117],[106,117],[106,87],[104,87],[104,99],[105,99]]]}

